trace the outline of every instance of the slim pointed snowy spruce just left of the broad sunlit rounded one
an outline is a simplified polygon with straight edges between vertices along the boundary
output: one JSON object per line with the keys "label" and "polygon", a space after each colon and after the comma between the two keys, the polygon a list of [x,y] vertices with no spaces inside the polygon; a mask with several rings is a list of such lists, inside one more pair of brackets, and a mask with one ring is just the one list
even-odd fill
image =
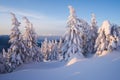
{"label": "slim pointed snowy spruce just left of the broad sunlit rounded one", "polygon": [[95,14],[92,13],[91,29],[89,31],[89,40],[87,42],[88,53],[94,53],[95,52],[94,45],[95,45],[96,38],[97,38],[97,21],[96,21]]}

